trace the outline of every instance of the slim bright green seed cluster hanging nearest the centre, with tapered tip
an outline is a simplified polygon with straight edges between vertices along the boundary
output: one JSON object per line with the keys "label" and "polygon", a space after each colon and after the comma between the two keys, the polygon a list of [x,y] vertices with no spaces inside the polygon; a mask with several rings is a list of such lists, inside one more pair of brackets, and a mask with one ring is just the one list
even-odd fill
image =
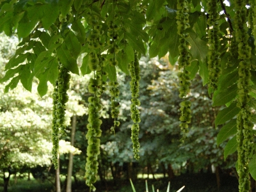
{"label": "slim bright green seed cluster hanging nearest the centre, with tapered tip", "polygon": [[137,109],[137,106],[140,106],[140,100],[139,97],[139,88],[140,88],[140,65],[138,61],[138,54],[135,52],[134,54],[134,61],[132,61],[129,64],[129,72],[131,74],[131,82],[130,82],[130,88],[131,88],[131,94],[132,94],[132,103],[131,103],[131,118],[134,124],[131,127],[132,135],[132,148],[134,152],[134,158],[139,159],[139,148],[140,148],[140,142],[139,142],[139,131],[140,131],[140,111]]}

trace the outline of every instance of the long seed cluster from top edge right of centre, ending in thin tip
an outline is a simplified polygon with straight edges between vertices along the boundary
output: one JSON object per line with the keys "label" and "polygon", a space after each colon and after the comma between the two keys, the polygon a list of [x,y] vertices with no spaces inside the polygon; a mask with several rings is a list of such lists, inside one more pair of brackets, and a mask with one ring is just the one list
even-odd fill
{"label": "long seed cluster from top edge right of centre, ending in thin tip", "polygon": [[[189,34],[186,33],[186,29],[190,28],[189,26],[189,10],[188,10],[188,1],[186,0],[178,0],[177,1],[177,29],[178,34],[181,36],[179,41],[179,68],[182,72],[178,74],[179,76],[179,97],[184,99],[184,101],[180,104],[180,129],[182,130],[183,134],[185,135],[188,132],[188,124],[190,122],[190,102],[186,99],[186,96],[189,93],[189,86],[190,86],[190,78],[189,72],[186,70],[186,67],[190,66],[191,62],[191,55],[189,52],[189,42],[188,36]],[[184,137],[181,139],[184,142]]]}

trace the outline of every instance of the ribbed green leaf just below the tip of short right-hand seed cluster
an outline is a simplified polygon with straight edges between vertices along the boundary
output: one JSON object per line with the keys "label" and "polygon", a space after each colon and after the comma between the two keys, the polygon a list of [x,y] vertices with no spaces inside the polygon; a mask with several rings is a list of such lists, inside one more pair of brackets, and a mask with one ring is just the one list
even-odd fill
{"label": "ribbed green leaf just below the tip of short right-hand seed cluster", "polygon": [[230,101],[232,101],[237,95],[237,84],[233,84],[229,88],[223,90],[218,90],[214,92],[213,95],[213,104],[212,106],[222,106]]}

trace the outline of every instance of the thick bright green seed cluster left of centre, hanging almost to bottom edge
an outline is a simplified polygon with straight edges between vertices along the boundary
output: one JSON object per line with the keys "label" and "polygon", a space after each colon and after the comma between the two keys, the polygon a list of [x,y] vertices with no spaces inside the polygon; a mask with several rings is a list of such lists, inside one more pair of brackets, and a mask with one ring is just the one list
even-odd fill
{"label": "thick bright green seed cluster left of centre, hanging almost to bottom edge", "polygon": [[88,24],[92,26],[92,31],[88,36],[88,47],[90,48],[88,67],[93,72],[93,77],[90,78],[88,85],[88,92],[93,96],[88,98],[88,132],[86,139],[88,140],[87,157],[86,157],[86,185],[90,186],[90,190],[95,191],[93,183],[97,180],[98,173],[98,156],[100,154],[100,139],[101,130],[100,125],[100,95],[106,90],[106,82],[102,81],[102,76],[107,75],[103,72],[104,58],[100,55],[100,34],[102,24],[99,23],[97,17],[88,17]]}

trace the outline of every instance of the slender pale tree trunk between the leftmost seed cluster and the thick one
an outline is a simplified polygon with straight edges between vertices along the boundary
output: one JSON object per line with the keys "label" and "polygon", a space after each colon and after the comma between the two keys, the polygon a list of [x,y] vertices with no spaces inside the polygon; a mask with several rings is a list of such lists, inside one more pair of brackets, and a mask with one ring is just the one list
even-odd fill
{"label": "slender pale tree trunk between the leftmost seed cluster and the thick one", "polygon": [[[75,133],[76,133],[76,115],[72,117],[72,129],[71,129],[71,145],[74,146],[75,141]],[[73,170],[73,154],[69,154],[69,162],[68,162],[68,176],[67,176],[67,192],[72,191],[72,170]]]}

